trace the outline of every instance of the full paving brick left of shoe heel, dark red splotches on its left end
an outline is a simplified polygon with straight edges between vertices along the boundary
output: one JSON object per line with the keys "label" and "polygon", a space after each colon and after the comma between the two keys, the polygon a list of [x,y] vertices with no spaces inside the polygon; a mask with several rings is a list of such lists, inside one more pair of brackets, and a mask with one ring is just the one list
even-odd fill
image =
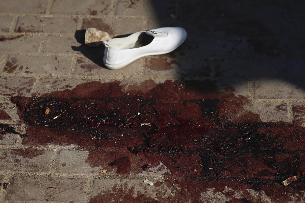
{"label": "full paving brick left of shoe heel, dark red splotches on its left end", "polygon": [[69,57],[9,55],[4,72],[68,75],[70,67]]}

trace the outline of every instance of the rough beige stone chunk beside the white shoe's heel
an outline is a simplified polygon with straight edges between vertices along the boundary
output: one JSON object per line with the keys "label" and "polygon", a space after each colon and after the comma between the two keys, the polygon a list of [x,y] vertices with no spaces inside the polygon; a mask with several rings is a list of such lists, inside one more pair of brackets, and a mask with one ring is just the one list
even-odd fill
{"label": "rough beige stone chunk beside the white shoe's heel", "polygon": [[96,28],[87,28],[85,33],[85,44],[88,47],[98,47],[102,44],[102,41],[110,40],[111,37],[109,33],[98,30]]}

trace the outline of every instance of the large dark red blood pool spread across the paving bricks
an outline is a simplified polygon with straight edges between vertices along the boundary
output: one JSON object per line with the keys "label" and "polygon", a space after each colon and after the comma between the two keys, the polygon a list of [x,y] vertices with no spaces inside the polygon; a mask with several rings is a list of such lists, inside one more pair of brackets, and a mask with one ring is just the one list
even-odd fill
{"label": "large dark red blood pool spread across the paving bricks", "polygon": [[[235,181],[272,196],[303,190],[301,178],[289,187],[280,184],[305,170],[303,127],[262,123],[242,107],[247,98],[235,96],[231,88],[219,90],[213,81],[122,89],[120,82],[90,82],[40,97],[13,97],[27,125],[23,144],[128,149],[130,156],[107,162],[122,174],[131,171],[132,159],[142,171],[161,161],[177,181]],[[235,115],[234,122],[228,115]],[[86,162],[101,166],[90,153]],[[192,185],[181,187],[196,193]]]}

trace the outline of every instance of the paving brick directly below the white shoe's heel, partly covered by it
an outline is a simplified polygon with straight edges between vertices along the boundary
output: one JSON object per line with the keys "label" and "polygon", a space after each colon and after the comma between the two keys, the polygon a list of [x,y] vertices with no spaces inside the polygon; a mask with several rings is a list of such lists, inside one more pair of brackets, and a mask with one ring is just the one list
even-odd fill
{"label": "paving brick directly below the white shoe's heel, partly covered by it", "polygon": [[[99,56],[101,60],[102,56]],[[85,57],[77,58],[75,74],[76,75],[100,75],[100,76],[116,76],[123,78],[135,77],[138,78],[141,75],[144,67],[144,60],[138,59],[131,64],[119,70],[109,70],[102,65],[95,64],[90,59]]]}

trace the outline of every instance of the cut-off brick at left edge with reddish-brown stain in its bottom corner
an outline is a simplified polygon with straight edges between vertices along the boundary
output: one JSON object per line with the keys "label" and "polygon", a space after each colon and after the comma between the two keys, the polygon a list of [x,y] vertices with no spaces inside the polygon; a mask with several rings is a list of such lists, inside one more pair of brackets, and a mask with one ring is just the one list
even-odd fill
{"label": "cut-off brick at left edge with reddish-brown stain in its bottom corner", "polygon": [[0,97],[0,120],[19,120],[17,107],[9,97]]}

